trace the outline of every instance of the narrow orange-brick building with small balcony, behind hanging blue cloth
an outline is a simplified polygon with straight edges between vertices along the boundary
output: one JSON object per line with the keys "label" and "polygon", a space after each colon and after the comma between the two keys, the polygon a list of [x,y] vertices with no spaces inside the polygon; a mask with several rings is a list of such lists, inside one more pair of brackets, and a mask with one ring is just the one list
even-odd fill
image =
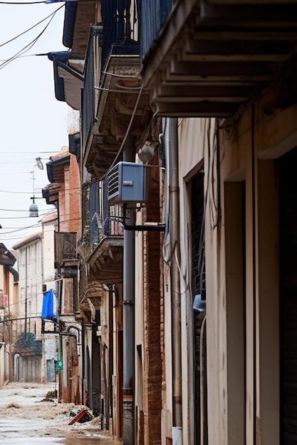
{"label": "narrow orange-brick building with small balcony, behind hanging blue cloth", "polygon": [[[58,400],[82,402],[83,360],[82,329],[78,315],[78,255],[80,237],[80,175],[75,156],[68,147],[51,156],[46,164],[50,183],[43,188],[46,203],[57,209],[57,227],[53,233],[53,290],[57,299],[57,317],[45,320],[43,331],[56,332],[58,342]],[[48,290],[48,289],[46,289]]]}

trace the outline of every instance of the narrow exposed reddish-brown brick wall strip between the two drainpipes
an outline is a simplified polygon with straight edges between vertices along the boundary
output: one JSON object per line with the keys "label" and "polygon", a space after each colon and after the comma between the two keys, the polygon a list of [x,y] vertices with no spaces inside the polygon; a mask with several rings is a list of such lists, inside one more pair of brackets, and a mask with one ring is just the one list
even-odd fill
{"label": "narrow exposed reddish-brown brick wall strip between the two drainpipes", "polygon": [[[155,170],[155,169],[154,169]],[[158,169],[156,168],[156,173]],[[150,190],[145,218],[160,221],[159,182]],[[144,429],[145,444],[153,445],[161,440],[161,291],[160,291],[160,233],[144,232]]]}

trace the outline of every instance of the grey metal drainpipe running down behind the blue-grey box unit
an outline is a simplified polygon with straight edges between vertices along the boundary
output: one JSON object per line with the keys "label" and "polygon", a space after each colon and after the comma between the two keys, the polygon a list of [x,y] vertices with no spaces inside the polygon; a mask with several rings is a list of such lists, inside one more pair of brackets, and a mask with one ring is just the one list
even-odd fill
{"label": "grey metal drainpipe running down behind the blue-grey box unit", "polygon": [[[125,142],[123,159],[135,162],[132,138]],[[134,224],[131,210],[129,224]],[[123,445],[135,445],[135,233],[124,230],[123,254]]]}

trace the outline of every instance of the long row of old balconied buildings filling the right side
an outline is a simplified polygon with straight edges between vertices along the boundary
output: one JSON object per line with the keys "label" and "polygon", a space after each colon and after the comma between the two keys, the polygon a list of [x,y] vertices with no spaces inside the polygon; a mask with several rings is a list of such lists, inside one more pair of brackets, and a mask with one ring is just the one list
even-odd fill
{"label": "long row of old balconied buildings filling the right side", "polygon": [[124,444],[297,440],[296,7],[66,4],[84,397]]}

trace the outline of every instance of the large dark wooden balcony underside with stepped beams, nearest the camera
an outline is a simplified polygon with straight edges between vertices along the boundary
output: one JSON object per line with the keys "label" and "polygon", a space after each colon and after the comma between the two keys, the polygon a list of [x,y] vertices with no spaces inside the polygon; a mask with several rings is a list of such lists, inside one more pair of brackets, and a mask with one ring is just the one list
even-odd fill
{"label": "large dark wooden balcony underside with stepped beams, nearest the camera", "polygon": [[295,103],[296,25],[296,1],[175,1],[142,58],[158,115],[230,117],[271,85],[273,107]]}

